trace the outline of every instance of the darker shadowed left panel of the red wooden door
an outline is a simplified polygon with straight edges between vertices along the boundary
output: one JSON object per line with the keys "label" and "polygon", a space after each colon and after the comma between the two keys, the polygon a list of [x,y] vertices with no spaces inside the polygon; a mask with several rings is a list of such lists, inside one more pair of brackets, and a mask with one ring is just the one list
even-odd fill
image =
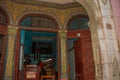
{"label": "darker shadowed left panel of the red wooden door", "polygon": [[83,55],[81,39],[74,42],[76,80],[83,80]]}

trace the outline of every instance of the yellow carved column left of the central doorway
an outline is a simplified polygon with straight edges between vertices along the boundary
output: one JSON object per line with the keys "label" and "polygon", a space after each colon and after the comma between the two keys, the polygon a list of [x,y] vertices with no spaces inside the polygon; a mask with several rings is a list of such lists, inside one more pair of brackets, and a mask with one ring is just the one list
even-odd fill
{"label": "yellow carved column left of the central doorway", "polygon": [[6,54],[7,56],[4,80],[13,80],[14,48],[16,34],[17,28],[14,26],[8,26],[8,52]]}

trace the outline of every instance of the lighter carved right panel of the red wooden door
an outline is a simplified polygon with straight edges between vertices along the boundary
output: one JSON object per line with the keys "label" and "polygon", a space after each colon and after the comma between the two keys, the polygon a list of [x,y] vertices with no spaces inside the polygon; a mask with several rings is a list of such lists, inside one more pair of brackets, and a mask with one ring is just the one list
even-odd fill
{"label": "lighter carved right panel of the red wooden door", "polygon": [[85,31],[81,37],[84,80],[95,80],[95,65],[93,60],[90,31]]}

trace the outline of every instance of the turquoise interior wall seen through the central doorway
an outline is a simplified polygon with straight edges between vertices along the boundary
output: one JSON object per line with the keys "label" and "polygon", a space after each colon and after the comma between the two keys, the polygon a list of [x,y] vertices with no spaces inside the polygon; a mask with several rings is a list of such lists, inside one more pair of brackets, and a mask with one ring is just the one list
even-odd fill
{"label": "turquoise interior wall seen through the central doorway", "polygon": [[[55,58],[57,60],[57,48],[56,48],[56,33],[49,33],[49,32],[35,32],[35,31],[29,31],[29,30],[21,30],[21,44],[24,45],[24,55],[31,55],[32,54],[32,42],[50,42],[53,45],[53,52],[50,54],[41,54],[41,60],[46,60],[48,58]],[[33,40],[33,36],[38,36],[38,37],[53,37],[53,40]],[[33,59],[31,59],[33,61]],[[36,64],[37,62],[32,62],[32,64]],[[55,61],[57,63],[57,61]],[[55,64],[56,66],[57,64]]]}

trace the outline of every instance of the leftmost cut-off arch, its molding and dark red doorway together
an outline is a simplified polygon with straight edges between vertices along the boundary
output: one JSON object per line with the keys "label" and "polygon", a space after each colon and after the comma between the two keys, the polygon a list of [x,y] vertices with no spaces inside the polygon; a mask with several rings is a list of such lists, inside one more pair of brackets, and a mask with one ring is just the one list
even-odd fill
{"label": "leftmost cut-off arch, its molding and dark red doorway together", "polygon": [[[2,0],[3,1],[3,0]],[[1,2],[1,1],[0,1]],[[13,18],[8,9],[0,3],[0,35],[1,35],[1,51],[0,51],[0,80],[4,79],[4,72],[6,71],[6,65],[4,63],[7,63],[6,55],[7,49],[8,49],[8,27],[10,24],[13,24]]]}

